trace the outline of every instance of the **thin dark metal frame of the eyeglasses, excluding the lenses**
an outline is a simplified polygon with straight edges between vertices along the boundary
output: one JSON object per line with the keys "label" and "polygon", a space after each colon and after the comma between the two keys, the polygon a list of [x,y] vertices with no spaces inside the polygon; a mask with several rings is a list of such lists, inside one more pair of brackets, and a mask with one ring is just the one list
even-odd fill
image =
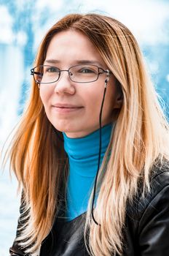
{"label": "thin dark metal frame of the eyeglasses, excluding the lenses", "polygon": [[[84,65],[87,65],[87,64],[84,64]],[[72,66],[72,67],[78,67],[78,66],[82,66],[82,64],[74,65],[74,66]],[[90,64],[90,66],[98,67],[97,65],[94,65],[94,64]],[[36,69],[37,67],[53,67],[53,66],[50,66],[50,65],[39,65],[39,66],[36,66],[36,67],[34,67],[34,68],[31,69],[31,75],[33,75],[35,83],[37,83],[37,84],[44,83],[44,82],[39,82],[39,81],[37,81],[37,80],[35,79],[35,76],[34,76],[34,75],[42,75],[42,76],[43,76],[43,73],[41,73],[41,72],[35,72],[35,71],[34,71],[34,69]],[[70,69],[71,69],[72,67],[69,67],[69,69],[63,69],[63,70],[60,70],[60,69],[59,69],[59,71],[58,71],[58,73],[59,73],[58,79],[55,80],[55,81],[53,81],[53,82],[48,82],[48,83],[55,83],[55,82],[57,82],[57,81],[59,80],[59,78],[60,78],[60,73],[61,73],[62,71],[67,71],[67,72],[68,72],[68,77],[69,77],[70,80],[71,80],[72,82],[74,82],[74,83],[93,83],[93,82],[95,82],[96,80],[98,80],[98,77],[99,77],[99,75],[101,75],[101,74],[104,74],[104,73],[106,73],[107,75],[112,74],[112,72],[111,72],[109,69],[106,69],[106,70],[105,70],[105,69],[103,69],[102,67],[98,67],[98,77],[97,77],[95,80],[88,81],[88,82],[79,82],[79,81],[75,81],[75,80],[72,80],[72,79],[71,79],[71,72],[70,72]],[[102,72],[99,72],[100,69],[101,69]]]}

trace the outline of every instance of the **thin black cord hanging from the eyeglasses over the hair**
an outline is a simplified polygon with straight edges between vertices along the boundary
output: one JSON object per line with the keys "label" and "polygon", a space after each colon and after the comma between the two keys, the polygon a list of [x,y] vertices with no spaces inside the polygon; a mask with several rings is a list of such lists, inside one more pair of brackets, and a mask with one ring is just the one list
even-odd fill
{"label": "thin black cord hanging from the eyeglasses over the hair", "polygon": [[100,162],[101,162],[101,118],[102,118],[102,110],[103,110],[103,103],[104,103],[104,98],[105,98],[105,94],[106,94],[106,85],[107,85],[107,81],[105,82],[105,88],[104,88],[104,93],[103,93],[103,99],[101,102],[101,110],[100,110],[100,114],[99,114],[99,151],[98,151],[98,170],[95,176],[95,184],[94,184],[94,190],[93,190],[93,201],[92,201],[92,217],[93,217],[93,221],[95,222],[96,225],[100,225],[98,224],[98,222],[95,220],[94,214],[93,214],[93,209],[94,209],[94,203],[95,203],[95,189],[96,189],[96,184],[97,184],[97,179],[98,179],[98,171],[99,171],[99,167],[100,167]]}

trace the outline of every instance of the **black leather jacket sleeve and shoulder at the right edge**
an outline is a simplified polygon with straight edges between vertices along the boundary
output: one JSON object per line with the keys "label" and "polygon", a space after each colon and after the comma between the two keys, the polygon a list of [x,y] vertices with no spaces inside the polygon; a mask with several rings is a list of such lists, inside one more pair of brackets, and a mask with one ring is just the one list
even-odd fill
{"label": "black leather jacket sleeve and shoulder at the right edge", "polygon": [[[129,207],[128,207],[129,206]],[[150,189],[141,191],[127,205],[125,255],[166,255],[169,230],[169,163],[157,163],[150,176]],[[133,244],[134,243],[134,244]]]}

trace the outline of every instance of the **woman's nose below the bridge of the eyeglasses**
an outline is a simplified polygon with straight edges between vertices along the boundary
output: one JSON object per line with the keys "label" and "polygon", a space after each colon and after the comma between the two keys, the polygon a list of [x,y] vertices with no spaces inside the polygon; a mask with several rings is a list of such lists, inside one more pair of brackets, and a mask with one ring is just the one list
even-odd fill
{"label": "woman's nose below the bridge of the eyeglasses", "polygon": [[68,76],[68,70],[62,70],[59,80],[55,82],[55,93],[74,94],[76,90],[73,83]]}

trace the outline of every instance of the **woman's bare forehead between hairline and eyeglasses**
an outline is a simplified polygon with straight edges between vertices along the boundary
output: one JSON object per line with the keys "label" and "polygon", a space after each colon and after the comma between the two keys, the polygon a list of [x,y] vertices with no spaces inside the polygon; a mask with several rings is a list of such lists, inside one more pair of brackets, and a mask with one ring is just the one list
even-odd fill
{"label": "woman's bare forehead between hairline and eyeglasses", "polygon": [[61,31],[52,37],[47,48],[47,59],[74,63],[80,60],[97,61],[104,64],[103,59],[93,42],[80,31]]}

